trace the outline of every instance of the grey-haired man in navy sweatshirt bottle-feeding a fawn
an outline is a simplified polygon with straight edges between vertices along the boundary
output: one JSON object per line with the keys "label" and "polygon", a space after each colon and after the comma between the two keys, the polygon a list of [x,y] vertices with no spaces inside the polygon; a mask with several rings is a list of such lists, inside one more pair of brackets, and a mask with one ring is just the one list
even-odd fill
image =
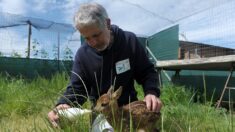
{"label": "grey-haired man in navy sweatshirt bottle-feeding a fawn", "polygon": [[[106,10],[96,3],[81,5],[74,22],[85,42],[76,53],[70,84],[56,109],[80,106],[87,98],[95,101],[111,85],[123,87],[118,103],[128,104],[137,100],[136,80],[143,86],[147,108],[160,111],[157,73],[135,34],[111,25]],[[55,111],[48,118],[57,126]]]}

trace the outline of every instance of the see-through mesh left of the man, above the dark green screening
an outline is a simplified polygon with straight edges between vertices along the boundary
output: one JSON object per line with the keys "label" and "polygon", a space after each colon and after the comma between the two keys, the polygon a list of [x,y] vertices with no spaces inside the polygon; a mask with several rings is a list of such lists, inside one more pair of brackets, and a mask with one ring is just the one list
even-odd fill
{"label": "see-through mesh left of the man, above the dark green screening", "polygon": [[0,12],[0,55],[72,60],[80,37],[70,24]]}

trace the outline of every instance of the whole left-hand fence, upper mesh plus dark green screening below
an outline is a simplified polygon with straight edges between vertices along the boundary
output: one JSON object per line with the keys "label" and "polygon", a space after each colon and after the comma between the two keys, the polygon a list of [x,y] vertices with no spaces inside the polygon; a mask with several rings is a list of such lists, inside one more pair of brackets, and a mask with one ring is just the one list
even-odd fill
{"label": "whole left-hand fence, upper mesh plus dark green screening below", "polygon": [[80,45],[72,25],[0,12],[0,72],[34,78],[69,72]]}

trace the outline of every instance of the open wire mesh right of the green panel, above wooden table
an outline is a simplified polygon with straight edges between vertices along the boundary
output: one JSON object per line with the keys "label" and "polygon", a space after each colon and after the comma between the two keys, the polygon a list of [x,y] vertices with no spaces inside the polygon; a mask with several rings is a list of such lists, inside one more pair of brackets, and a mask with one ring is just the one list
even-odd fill
{"label": "open wire mesh right of the green panel, above wooden table", "polygon": [[235,1],[189,16],[179,24],[179,59],[235,54]]}

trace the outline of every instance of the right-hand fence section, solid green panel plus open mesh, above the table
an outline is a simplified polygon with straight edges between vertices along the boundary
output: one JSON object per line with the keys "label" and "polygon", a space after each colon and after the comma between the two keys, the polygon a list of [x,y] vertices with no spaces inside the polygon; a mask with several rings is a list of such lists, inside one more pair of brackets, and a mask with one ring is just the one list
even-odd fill
{"label": "right-hand fence section, solid green panel plus open mesh, above the table", "polygon": [[155,60],[234,55],[234,11],[229,1],[189,15],[148,37],[148,47]]}

